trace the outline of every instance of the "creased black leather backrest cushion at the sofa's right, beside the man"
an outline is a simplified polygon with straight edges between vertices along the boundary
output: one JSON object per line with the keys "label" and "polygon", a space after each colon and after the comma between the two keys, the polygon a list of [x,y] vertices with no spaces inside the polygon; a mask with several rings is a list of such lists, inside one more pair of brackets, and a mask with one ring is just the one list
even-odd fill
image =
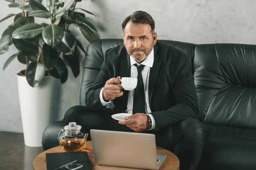
{"label": "creased black leather backrest cushion at the sofa's right, beside the man", "polygon": [[256,45],[196,45],[194,78],[198,119],[256,128]]}

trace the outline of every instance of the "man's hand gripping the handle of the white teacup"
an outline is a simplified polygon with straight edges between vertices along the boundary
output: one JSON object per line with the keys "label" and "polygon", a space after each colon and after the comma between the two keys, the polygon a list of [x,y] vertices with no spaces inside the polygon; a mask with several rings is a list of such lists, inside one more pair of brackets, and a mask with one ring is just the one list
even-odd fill
{"label": "man's hand gripping the handle of the white teacup", "polygon": [[106,82],[103,89],[103,99],[105,101],[113,100],[116,97],[120,97],[123,95],[122,86],[117,85],[121,84],[120,79],[121,77],[118,76],[117,78],[111,78]]}

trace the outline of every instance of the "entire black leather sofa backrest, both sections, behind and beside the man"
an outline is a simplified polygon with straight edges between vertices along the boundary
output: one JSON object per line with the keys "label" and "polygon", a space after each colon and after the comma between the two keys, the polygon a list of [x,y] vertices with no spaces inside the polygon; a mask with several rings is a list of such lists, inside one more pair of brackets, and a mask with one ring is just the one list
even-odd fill
{"label": "entire black leather sofa backrest, both sections, behind and beside the man", "polygon": [[[189,57],[201,122],[256,128],[256,45],[158,41],[178,48]],[[85,94],[99,74],[106,50],[122,43],[122,39],[102,39],[88,45],[80,105],[85,105]]]}

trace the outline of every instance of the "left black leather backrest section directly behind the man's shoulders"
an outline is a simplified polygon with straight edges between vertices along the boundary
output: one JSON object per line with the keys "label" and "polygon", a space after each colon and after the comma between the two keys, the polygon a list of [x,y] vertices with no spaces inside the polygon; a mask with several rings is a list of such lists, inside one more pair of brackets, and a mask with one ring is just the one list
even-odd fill
{"label": "left black leather backrest section directly behind the man's shoulders", "polygon": [[[157,41],[172,45],[173,47],[183,51],[188,57],[190,57],[190,62],[192,63],[195,44],[170,40]],[[109,48],[113,48],[121,44],[123,44],[122,39],[101,39],[91,42],[88,45],[84,59],[84,71],[80,90],[80,105],[85,105],[85,94],[99,74],[100,67],[105,57],[105,52]]]}

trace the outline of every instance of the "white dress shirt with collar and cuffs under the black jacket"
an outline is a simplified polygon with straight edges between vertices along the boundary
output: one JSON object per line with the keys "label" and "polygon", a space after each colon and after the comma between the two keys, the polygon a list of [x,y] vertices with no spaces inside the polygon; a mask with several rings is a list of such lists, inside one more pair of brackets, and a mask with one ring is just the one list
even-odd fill
{"label": "white dress shirt with collar and cuffs under the black jacket", "polygon": [[[154,48],[152,49],[151,53],[148,55],[148,57],[141,63],[137,63],[131,56],[130,56],[130,62],[131,62],[131,74],[130,77],[137,78],[138,76],[138,71],[137,68],[134,64],[137,65],[145,65],[143,68],[141,74],[142,74],[142,79],[143,79],[143,84],[144,84],[144,89],[145,89],[145,112],[150,116],[152,120],[152,127],[149,130],[152,130],[155,128],[155,121],[154,117],[149,114],[151,113],[151,109],[149,107],[149,98],[148,98],[148,79],[149,79],[149,74],[150,74],[150,68],[153,66],[154,63]],[[122,78],[122,77],[121,77]],[[103,88],[101,89],[99,93],[99,99],[102,105],[108,105],[112,101],[105,102],[103,99]],[[128,103],[127,103],[127,109],[125,113],[132,114],[132,108],[133,108],[133,99],[134,99],[134,90],[128,92]]]}

